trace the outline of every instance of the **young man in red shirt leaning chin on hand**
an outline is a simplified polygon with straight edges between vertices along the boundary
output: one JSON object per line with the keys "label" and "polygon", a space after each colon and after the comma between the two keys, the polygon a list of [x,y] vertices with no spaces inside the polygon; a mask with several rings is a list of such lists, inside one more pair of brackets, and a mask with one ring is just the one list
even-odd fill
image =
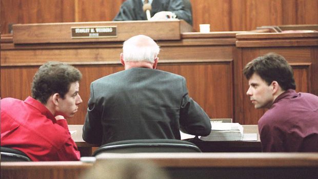
{"label": "young man in red shirt leaning chin on hand", "polygon": [[[1,146],[24,152],[32,161],[77,161],[77,146],[66,119],[83,101],[82,74],[62,62],[47,62],[33,77],[32,97],[1,100]],[[66,118],[66,119],[65,119]]]}

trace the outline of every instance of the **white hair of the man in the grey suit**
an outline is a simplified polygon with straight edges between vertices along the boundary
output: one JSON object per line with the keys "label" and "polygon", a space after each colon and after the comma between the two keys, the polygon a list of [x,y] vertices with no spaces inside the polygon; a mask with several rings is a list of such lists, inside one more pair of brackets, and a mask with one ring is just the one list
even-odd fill
{"label": "white hair of the man in the grey suit", "polygon": [[[142,39],[145,44],[142,44]],[[148,36],[138,35],[126,40],[123,45],[124,61],[147,61],[154,63],[154,59],[159,54],[160,48]]]}

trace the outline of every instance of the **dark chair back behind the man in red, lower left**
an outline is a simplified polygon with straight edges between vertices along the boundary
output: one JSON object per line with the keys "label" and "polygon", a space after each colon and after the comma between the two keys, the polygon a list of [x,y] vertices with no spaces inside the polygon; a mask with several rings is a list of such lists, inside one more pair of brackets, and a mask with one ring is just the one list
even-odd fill
{"label": "dark chair back behind the man in red, lower left", "polygon": [[0,147],[1,149],[1,162],[29,162],[31,159],[20,150]]}

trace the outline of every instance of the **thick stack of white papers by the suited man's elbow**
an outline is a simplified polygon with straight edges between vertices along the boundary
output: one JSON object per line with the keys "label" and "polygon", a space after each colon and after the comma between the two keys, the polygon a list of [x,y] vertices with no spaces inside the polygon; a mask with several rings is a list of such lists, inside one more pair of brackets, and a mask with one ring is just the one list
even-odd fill
{"label": "thick stack of white papers by the suited man's elbow", "polygon": [[243,126],[239,123],[211,123],[209,136],[200,137],[203,141],[241,141],[243,139]]}

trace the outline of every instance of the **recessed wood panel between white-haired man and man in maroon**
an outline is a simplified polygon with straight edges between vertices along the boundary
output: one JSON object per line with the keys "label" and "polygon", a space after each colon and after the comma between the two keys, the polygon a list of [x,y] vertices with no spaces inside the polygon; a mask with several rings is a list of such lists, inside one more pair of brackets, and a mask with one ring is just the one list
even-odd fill
{"label": "recessed wood panel between white-haired man and man in maroon", "polygon": [[210,118],[233,116],[232,62],[159,64],[158,69],[182,75],[187,80],[189,95]]}

